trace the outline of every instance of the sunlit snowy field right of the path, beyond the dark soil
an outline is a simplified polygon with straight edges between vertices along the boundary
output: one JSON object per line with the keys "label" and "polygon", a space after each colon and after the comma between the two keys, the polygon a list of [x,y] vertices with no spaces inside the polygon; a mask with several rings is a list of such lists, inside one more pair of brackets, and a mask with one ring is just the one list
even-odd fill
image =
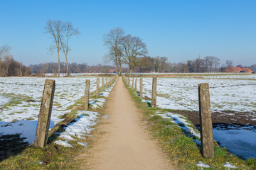
{"label": "sunlit snowy field right of the path, beyond the dark soil", "polygon": [[[256,112],[256,81],[246,79],[158,78],[156,104],[159,108],[198,111],[201,83],[210,86],[211,111]],[[143,79],[143,88],[144,96],[151,98],[151,78]]]}

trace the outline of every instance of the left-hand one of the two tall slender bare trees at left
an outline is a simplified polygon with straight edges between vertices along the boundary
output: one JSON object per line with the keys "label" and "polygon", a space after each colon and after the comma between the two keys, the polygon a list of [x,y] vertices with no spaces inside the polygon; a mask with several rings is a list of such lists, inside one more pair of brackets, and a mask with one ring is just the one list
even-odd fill
{"label": "left-hand one of the two tall slender bare trees at left", "polygon": [[46,22],[46,33],[50,34],[51,38],[55,42],[53,47],[58,53],[58,77],[60,77],[60,49],[61,49],[61,36],[63,34],[63,23],[61,21],[51,21]]}

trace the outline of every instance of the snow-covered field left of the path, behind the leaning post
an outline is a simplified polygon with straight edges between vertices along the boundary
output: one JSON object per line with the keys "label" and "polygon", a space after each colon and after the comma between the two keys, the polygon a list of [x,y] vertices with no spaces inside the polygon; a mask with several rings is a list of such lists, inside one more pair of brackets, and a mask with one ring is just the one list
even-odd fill
{"label": "snow-covered field left of the path, behind the leaning post", "polygon": [[[20,133],[26,137],[25,142],[33,142],[46,79],[55,79],[56,84],[50,128],[63,120],[60,115],[70,112],[68,107],[84,96],[86,79],[90,79],[90,92],[96,90],[96,77],[0,78],[0,136]],[[106,89],[101,95],[108,96],[110,91]],[[104,102],[104,98],[90,98],[93,108]]]}

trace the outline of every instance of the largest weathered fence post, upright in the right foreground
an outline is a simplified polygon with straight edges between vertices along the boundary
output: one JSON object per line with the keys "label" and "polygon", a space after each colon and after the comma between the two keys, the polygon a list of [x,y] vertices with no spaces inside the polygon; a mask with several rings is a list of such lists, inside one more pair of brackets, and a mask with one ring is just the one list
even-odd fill
{"label": "largest weathered fence post, upright in the right foreground", "polygon": [[199,84],[198,98],[199,98],[201,151],[203,153],[203,157],[214,158],[213,123],[211,120],[211,113],[210,113],[209,84]]}

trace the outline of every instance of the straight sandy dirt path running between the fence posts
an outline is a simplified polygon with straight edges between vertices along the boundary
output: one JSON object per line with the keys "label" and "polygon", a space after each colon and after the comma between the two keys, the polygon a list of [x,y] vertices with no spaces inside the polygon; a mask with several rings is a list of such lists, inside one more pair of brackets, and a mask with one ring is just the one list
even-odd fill
{"label": "straight sandy dirt path running between the fence posts", "polygon": [[109,118],[100,125],[105,133],[96,136],[97,142],[89,151],[91,169],[174,169],[144,130],[142,113],[122,78],[114,86],[106,109]]}

